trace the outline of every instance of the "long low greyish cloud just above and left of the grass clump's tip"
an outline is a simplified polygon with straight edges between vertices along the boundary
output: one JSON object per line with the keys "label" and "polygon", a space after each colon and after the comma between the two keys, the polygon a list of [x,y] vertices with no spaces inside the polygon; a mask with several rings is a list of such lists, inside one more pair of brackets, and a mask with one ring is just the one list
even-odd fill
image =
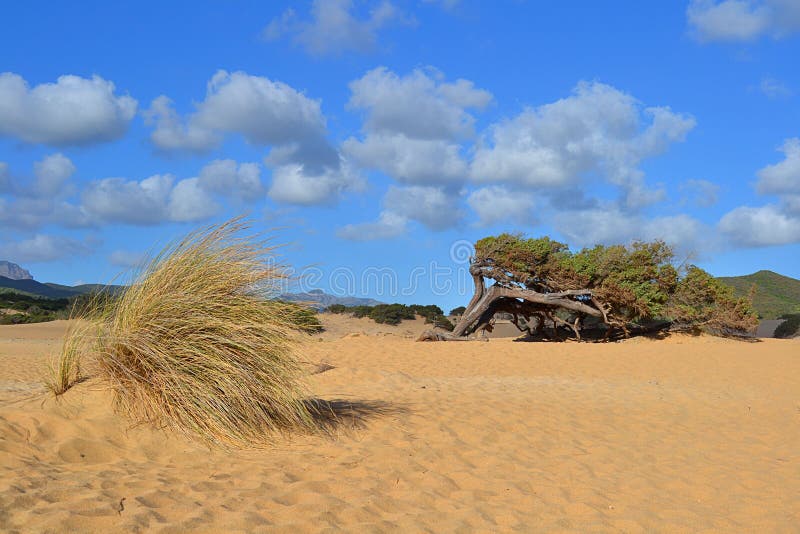
{"label": "long low greyish cloud just above and left of the grass clump's tip", "polygon": [[200,221],[218,212],[219,206],[197,178],[174,182],[168,174],[141,181],[97,180],[83,191],[82,209],[94,220],[135,225]]}

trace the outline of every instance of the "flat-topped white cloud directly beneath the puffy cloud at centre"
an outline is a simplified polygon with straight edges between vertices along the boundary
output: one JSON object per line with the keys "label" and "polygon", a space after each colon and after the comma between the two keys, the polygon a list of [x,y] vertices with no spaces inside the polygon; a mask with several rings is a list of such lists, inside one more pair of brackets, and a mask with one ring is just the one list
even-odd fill
{"label": "flat-topped white cloud directly beneath the puffy cloud at centre", "polygon": [[409,184],[463,182],[469,174],[461,147],[445,140],[373,134],[364,141],[346,140],[342,151],[363,168],[381,170]]}

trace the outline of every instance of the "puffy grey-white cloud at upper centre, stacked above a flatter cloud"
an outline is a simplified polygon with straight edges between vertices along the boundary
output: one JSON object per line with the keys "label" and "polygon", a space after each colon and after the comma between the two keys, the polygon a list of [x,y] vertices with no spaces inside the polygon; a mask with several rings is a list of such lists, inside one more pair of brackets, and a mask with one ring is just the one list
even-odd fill
{"label": "puffy grey-white cloud at upper centre, stacked above a flatter cloud", "polygon": [[366,110],[364,128],[370,133],[403,134],[413,139],[460,139],[474,133],[475,119],[467,108],[482,109],[491,93],[472,82],[441,81],[429,69],[398,76],[385,67],[350,82],[348,106]]}

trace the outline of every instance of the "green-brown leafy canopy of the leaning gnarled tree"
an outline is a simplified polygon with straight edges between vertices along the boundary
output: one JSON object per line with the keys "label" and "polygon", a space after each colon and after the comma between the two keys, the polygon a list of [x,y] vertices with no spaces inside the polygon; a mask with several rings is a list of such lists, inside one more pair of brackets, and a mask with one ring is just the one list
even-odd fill
{"label": "green-brown leafy canopy of the leaning gnarled tree", "polygon": [[540,293],[590,290],[612,321],[631,323],[669,318],[686,327],[716,332],[751,330],[752,304],[698,267],[683,277],[663,241],[631,246],[597,245],[573,253],[549,237],[501,234],[475,244],[473,267],[506,286]]}

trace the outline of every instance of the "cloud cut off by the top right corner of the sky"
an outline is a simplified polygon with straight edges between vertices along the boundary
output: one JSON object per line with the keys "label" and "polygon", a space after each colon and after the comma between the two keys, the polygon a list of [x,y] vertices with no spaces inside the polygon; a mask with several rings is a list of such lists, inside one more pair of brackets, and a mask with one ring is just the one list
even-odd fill
{"label": "cloud cut off by the top right corner of the sky", "polygon": [[691,0],[686,10],[694,36],[708,41],[752,41],[800,30],[795,0]]}

